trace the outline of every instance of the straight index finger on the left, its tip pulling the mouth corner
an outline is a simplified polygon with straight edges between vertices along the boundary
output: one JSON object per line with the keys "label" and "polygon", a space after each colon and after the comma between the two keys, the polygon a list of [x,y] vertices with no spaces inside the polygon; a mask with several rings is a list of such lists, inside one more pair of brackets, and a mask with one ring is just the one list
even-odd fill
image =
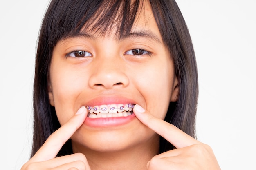
{"label": "straight index finger on the left, its tip pulling the mouth corner", "polygon": [[82,106],[67,123],[48,137],[43,146],[31,158],[31,161],[41,162],[55,158],[65,142],[70,139],[74,132],[83,124],[86,116],[87,109],[85,106]]}

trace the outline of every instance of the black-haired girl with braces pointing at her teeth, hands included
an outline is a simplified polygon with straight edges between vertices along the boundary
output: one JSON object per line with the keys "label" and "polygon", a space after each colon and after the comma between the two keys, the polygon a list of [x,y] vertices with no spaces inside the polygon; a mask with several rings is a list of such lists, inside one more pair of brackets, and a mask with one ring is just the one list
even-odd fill
{"label": "black-haired girl with braces pointing at her teeth, hands included", "polygon": [[195,139],[198,78],[174,0],[52,0],[22,170],[219,170]]}

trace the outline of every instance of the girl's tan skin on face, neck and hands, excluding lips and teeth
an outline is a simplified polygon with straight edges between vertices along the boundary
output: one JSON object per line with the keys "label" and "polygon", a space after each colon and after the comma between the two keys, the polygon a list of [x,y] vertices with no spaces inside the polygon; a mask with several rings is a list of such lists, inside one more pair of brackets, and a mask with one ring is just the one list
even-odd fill
{"label": "girl's tan skin on face, neck and hands, excluding lips and teeth", "polygon": [[[57,43],[50,67],[49,99],[61,128],[22,170],[220,169],[209,146],[163,121],[169,102],[177,101],[178,81],[148,2],[142,14],[132,32],[150,31],[154,38],[133,35],[119,41],[113,31],[106,37],[90,33],[90,38],[68,38]],[[135,55],[132,49],[144,52]],[[87,53],[76,57],[72,53],[75,50]],[[148,75],[155,78],[145,79]],[[85,106],[90,106],[93,99],[122,97],[136,104],[135,119],[119,126],[84,124],[88,119]],[[157,155],[159,135],[177,149]],[[74,154],[56,158],[69,138]]]}

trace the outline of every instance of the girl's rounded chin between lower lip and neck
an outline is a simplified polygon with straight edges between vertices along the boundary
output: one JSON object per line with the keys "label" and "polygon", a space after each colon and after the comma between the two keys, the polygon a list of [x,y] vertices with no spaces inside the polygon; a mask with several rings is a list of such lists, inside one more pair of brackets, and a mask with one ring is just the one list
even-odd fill
{"label": "girl's rounded chin between lower lip and neck", "polygon": [[141,126],[137,129],[84,129],[83,132],[80,128],[72,136],[72,146],[76,148],[76,152],[83,152],[83,150],[94,152],[121,152],[122,150],[143,146],[149,143],[150,139],[155,137],[155,135],[155,132],[146,126]]}

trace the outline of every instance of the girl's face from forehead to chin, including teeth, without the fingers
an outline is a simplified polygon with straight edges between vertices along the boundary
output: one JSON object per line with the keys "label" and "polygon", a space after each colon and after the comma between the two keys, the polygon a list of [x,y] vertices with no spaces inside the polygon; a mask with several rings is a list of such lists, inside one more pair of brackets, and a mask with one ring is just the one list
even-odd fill
{"label": "girl's face from forehead to chin, including teeth, without the fingers", "polygon": [[144,5],[131,33],[121,40],[115,30],[108,36],[83,31],[54,48],[49,99],[60,124],[81,106],[91,108],[71,138],[74,152],[82,147],[122,150],[158,141],[132,111],[124,111],[132,109],[128,104],[139,104],[164,119],[169,102],[179,93],[173,60],[150,5]]}

